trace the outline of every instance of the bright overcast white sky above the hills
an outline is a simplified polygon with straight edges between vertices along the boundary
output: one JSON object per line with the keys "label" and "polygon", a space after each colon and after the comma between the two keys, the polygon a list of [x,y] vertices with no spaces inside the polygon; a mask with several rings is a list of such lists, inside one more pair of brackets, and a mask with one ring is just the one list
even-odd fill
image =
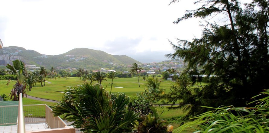
{"label": "bright overcast white sky above the hills", "polygon": [[202,34],[198,19],[173,24],[193,1],[180,0],[1,0],[0,39],[41,54],[74,48],[127,55],[140,62],[167,60],[167,41],[191,41]]}

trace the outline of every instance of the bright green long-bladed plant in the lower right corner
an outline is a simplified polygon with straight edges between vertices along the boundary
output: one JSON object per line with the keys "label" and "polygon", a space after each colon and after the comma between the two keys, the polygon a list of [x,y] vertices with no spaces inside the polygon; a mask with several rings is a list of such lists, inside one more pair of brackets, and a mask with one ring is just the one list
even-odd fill
{"label": "bright green long-bladed plant in the lower right corner", "polygon": [[255,107],[234,107],[220,106],[196,117],[193,122],[188,122],[173,132],[180,132],[186,128],[192,127],[196,132],[218,132],[218,133],[262,133],[269,132],[269,123],[267,115],[269,113],[269,90],[265,90],[258,96],[264,97],[251,103],[256,103]]}

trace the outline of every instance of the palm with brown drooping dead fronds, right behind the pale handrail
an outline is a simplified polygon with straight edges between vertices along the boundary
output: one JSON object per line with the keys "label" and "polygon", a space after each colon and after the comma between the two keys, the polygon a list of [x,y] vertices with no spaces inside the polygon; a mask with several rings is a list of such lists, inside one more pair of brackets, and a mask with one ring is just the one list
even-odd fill
{"label": "palm with brown drooping dead fronds, right behind the pale handrail", "polygon": [[[16,75],[17,82],[13,86],[13,89],[11,90],[9,96],[10,99],[13,101],[18,101],[19,94],[22,93],[22,96],[26,94],[26,85],[24,82],[25,76],[27,76],[27,72],[25,70],[25,65],[20,60],[13,60],[12,61],[13,66],[10,64],[7,64],[7,68],[9,69],[8,72]],[[9,83],[9,82],[8,82]]]}

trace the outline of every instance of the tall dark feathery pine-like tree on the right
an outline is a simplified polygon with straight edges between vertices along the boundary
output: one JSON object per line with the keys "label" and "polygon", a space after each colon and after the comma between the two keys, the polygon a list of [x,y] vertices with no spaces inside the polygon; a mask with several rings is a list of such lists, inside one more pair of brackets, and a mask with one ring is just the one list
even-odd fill
{"label": "tall dark feathery pine-like tree on the right", "polygon": [[[192,111],[190,115],[203,110],[199,105],[245,106],[251,97],[269,87],[269,2],[252,0],[243,5],[238,0],[199,0],[197,3],[203,4],[201,8],[187,11],[174,23],[189,18],[210,19],[211,16],[225,23],[207,23],[202,37],[193,41],[171,42],[175,51],[167,57],[188,62],[185,73],[191,77],[192,85],[201,81],[201,75],[206,75],[207,81],[207,85],[199,89],[184,89],[182,95],[187,97],[178,94],[178,99],[186,100],[184,104]],[[173,90],[180,88],[182,90],[182,87]]]}

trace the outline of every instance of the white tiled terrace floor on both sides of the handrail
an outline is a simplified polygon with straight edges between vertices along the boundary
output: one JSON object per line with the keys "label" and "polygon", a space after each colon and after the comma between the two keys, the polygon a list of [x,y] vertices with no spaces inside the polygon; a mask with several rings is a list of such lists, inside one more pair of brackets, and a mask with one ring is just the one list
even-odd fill
{"label": "white tiled terrace floor on both sides of the handrail", "polygon": [[[0,126],[0,133],[16,133],[17,125],[12,126]],[[44,130],[49,129],[45,123],[39,124],[25,124],[25,131]]]}

